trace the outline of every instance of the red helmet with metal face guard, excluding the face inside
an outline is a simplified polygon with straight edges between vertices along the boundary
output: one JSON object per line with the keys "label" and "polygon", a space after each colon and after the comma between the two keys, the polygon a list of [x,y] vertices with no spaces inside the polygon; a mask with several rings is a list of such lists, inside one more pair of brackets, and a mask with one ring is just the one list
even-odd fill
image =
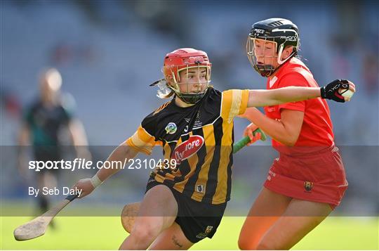
{"label": "red helmet with metal face guard, excluding the face inside", "polygon": [[[208,55],[204,51],[199,51],[192,48],[182,48],[177,49],[171,53],[168,53],[164,58],[164,77],[167,81],[173,83],[169,84],[168,87],[172,89],[175,94],[182,99],[185,103],[197,103],[208,89],[209,82],[211,82],[211,66],[209,62]],[[178,84],[180,83],[179,72],[182,70],[188,70],[194,67],[206,67],[206,79],[207,82],[199,83],[206,84],[205,90],[199,89],[199,91],[194,93],[183,93],[180,91]]]}

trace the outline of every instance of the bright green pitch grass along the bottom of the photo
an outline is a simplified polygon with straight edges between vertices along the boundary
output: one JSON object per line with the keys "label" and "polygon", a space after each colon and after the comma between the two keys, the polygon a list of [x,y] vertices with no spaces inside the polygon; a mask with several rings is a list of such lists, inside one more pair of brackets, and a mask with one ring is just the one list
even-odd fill
{"label": "bright green pitch grass along the bottom of the photo", "polygon": [[[30,217],[1,217],[1,250],[117,250],[127,236],[119,217],[57,217],[56,229],[18,242],[13,230]],[[244,217],[224,217],[212,239],[192,250],[238,250]],[[378,250],[379,217],[329,217],[293,250]]]}

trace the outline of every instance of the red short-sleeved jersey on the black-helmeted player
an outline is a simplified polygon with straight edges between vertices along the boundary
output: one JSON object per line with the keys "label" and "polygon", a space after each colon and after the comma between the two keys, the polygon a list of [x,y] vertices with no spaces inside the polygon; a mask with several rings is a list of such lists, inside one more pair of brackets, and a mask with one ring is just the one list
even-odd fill
{"label": "red short-sleeved jersey on the black-helmeted player", "polygon": [[[272,79],[267,79],[267,89],[277,89],[285,86],[310,86],[318,87],[310,70],[298,58],[291,58],[282,65]],[[272,146],[280,153],[310,153],[324,147],[334,145],[333,125],[331,122],[328,103],[322,98],[313,98],[307,101],[285,103],[265,107],[267,117],[274,120],[281,119],[281,109],[298,110],[304,112],[304,120],[298,141],[293,148],[284,146],[278,141],[272,140]],[[315,148],[316,146],[316,148]],[[311,148],[310,148],[311,147]]]}

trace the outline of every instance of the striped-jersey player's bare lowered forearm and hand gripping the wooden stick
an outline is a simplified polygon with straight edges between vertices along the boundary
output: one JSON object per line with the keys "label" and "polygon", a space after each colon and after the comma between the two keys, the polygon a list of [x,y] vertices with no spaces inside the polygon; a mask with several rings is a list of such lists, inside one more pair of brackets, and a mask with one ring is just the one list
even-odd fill
{"label": "striped-jersey player's bare lowered forearm and hand gripping the wooden stick", "polygon": [[[109,155],[107,158],[108,162],[122,162],[124,163],[125,160],[132,159],[138,154],[138,151],[134,148],[131,148],[128,146],[126,141],[124,143],[121,143],[120,146],[117,146],[116,149],[113,150],[113,152]],[[72,186],[72,188],[81,189],[81,195],[80,198],[83,198],[84,196],[90,194],[97,186],[102,184],[103,181],[108,179],[113,174],[119,172],[120,169],[124,167],[119,167],[118,165],[112,167],[112,168],[101,168],[91,179],[81,179]]]}

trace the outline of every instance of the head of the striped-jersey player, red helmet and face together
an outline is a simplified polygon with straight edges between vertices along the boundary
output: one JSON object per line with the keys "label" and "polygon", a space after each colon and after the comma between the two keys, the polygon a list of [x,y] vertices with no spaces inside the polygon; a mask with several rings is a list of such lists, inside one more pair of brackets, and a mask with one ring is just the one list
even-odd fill
{"label": "head of the striped-jersey player, red helmet and face together", "polygon": [[[183,102],[194,104],[201,100],[211,82],[211,67],[204,51],[195,49],[178,49],[166,55],[164,61],[164,76],[168,88],[175,92]],[[185,79],[180,78],[180,72],[185,72]],[[205,73],[205,81],[200,76]],[[194,74],[194,76],[192,75]],[[197,78],[189,81],[188,76]]]}

